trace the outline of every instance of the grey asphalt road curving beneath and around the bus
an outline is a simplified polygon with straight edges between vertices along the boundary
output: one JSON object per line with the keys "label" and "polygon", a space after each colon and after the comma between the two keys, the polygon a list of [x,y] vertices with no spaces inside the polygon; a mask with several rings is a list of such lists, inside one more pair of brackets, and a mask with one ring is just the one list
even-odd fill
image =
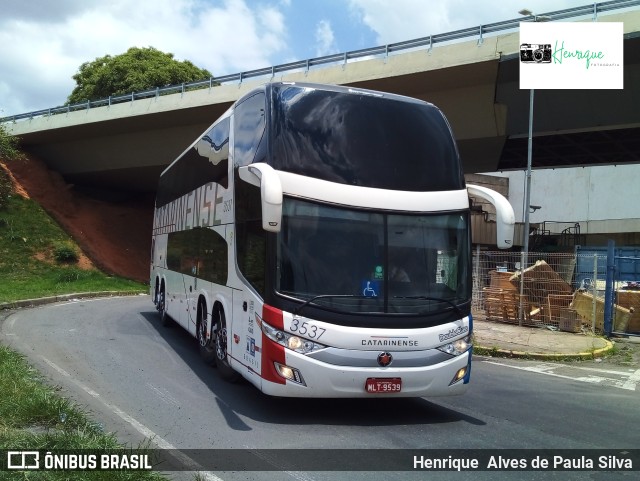
{"label": "grey asphalt road curving beneath and around the bus", "polygon": [[[222,381],[201,361],[195,339],[179,327],[160,325],[149,296],[18,310],[2,322],[0,341],[26,354],[63,394],[133,446],[145,439],[179,450],[635,449],[640,444],[637,429],[630,428],[640,419],[640,379],[624,367],[476,358],[471,388],[460,397],[270,398],[248,383]],[[334,461],[326,459],[327,469]],[[277,469],[277,461],[273,464]],[[429,472],[428,479],[631,480],[638,474]],[[226,471],[206,479],[425,477],[423,472]]]}

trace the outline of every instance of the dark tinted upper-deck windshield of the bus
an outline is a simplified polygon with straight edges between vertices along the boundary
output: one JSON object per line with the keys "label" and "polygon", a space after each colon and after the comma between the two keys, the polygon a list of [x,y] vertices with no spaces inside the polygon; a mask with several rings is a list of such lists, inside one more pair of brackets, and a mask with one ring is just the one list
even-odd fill
{"label": "dark tinted upper-deck windshield of the bus", "polygon": [[449,124],[433,105],[297,85],[274,91],[274,169],[378,189],[464,189]]}

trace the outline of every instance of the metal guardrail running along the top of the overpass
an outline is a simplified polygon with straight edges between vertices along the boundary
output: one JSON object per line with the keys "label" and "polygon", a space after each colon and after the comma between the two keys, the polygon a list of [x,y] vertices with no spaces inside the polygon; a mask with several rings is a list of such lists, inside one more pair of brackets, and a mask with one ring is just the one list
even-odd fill
{"label": "metal guardrail running along the top of the overpass", "polygon": [[190,90],[198,90],[203,88],[212,88],[214,86],[231,83],[242,82],[243,80],[271,76],[273,78],[278,73],[291,72],[295,70],[304,69],[308,71],[311,67],[319,65],[337,64],[343,63],[346,65],[349,60],[362,59],[365,57],[375,56],[388,56],[394,52],[400,52],[403,50],[410,50],[413,48],[427,47],[429,50],[436,44],[442,44],[446,42],[452,42],[462,39],[477,38],[478,44],[482,43],[483,37],[488,34],[503,32],[506,30],[517,29],[521,22],[535,21],[536,17],[546,17],[547,19],[564,20],[567,18],[576,18],[585,15],[592,15],[595,20],[600,13],[610,12],[613,10],[620,10],[623,8],[630,8],[640,6],[640,0],[612,0],[609,2],[600,2],[584,5],[581,7],[567,8],[564,10],[557,10],[555,12],[544,13],[540,15],[529,15],[525,17],[519,17],[512,20],[505,20],[502,22],[489,23],[486,25],[479,25],[477,27],[464,28],[461,30],[454,30],[452,32],[440,33],[436,35],[429,35],[427,37],[416,38],[412,40],[405,40],[402,42],[390,43],[378,47],[363,48],[360,50],[351,50],[348,52],[325,55],[323,57],[316,57],[307,60],[300,60],[296,62],[285,63],[281,65],[275,65],[272,67],[265,67],[255,70],[249,70],[246,72],[235,73],[231,75],[223,75],[221,77],[211,77],[196,82],[188,82],[180,85],[170,85],[167,87],[157,87],[152,90],[145,90],[142,92],[132,92],[126,95],[111,96],[106,99],[91,100],[82,103],[63,105],[59,107],[52,107],[43,110],[37,110],[35,112],[27,112],[24,114],[11,115],[0,118],[0,123],[15,122],[17,120],[33,119],[34,117],[46,117],[50,115],[76,112],[81,110],[88,110],[96,107],[105,107],[115,105],[123,102],[133,102],[134,100],[142,100],[147,98],[159,97],[160,95],[184,94]]}

